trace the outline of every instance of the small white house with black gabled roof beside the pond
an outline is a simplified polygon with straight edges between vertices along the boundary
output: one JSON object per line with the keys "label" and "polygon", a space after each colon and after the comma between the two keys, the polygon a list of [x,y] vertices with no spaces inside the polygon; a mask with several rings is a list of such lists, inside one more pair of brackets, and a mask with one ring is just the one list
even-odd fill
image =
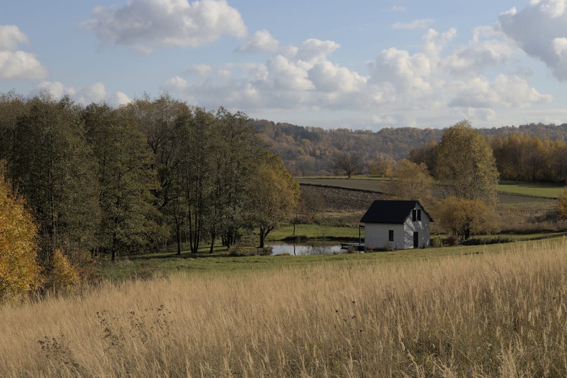
{"label": "small white house with black gabled roof beside the pond", "polygon": [[365,249],[429,246],[431,216],[419,201],[376,200],[360,220]]}

